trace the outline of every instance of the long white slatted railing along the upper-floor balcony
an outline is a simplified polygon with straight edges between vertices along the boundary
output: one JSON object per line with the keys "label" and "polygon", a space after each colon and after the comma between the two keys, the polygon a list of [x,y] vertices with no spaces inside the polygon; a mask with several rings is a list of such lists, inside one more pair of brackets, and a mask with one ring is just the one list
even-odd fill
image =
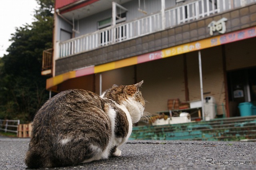
{"label": "long white slatted railing along the upper-floor balcony", "polygon": [[256,0],[195,0],[182,6],[166,9],[165,28],[162,28],[162,15],[159,12],[60,42],[59,57],[67,57],[109,44],[130,40],[253,2],[256,2]]}

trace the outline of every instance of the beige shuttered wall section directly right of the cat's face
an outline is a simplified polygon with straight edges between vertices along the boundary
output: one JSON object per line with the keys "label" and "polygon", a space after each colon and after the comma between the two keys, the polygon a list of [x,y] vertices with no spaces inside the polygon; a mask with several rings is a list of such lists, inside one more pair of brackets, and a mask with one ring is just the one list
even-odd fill
{"label": "beige shuttered wall section directly right of the cat's face", "polygon": [[185,101],[183,69],[182,55],[137,65],[138,81],[144,80],[142,95],[149,102],[145,111],[155,115],[168,110],[168,99]]}

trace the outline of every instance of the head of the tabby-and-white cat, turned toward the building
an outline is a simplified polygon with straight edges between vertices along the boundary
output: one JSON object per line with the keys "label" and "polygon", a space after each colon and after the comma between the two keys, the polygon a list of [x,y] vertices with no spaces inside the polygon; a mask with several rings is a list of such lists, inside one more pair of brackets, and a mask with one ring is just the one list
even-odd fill
{"label": "head of the tabby-and-white cat, turned toward the building", "polygon": [[136,123],[142,117],[145,107],[145,101],[139,90],[142,83],[143,80],[134,85],[113,85],[101,97],[111,99],[117,104],[125,106],[131,115],[132,123]]}

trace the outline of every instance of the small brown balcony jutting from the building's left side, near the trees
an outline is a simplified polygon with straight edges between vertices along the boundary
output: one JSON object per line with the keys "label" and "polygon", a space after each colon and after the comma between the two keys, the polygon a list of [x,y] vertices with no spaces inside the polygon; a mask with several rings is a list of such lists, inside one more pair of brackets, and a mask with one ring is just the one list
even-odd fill
{"label": "small brown balcony jutting from the building's left side, near the trees", "polygon": [[52,48],[43,51],[42,75],[52,74],[52,51]]}

